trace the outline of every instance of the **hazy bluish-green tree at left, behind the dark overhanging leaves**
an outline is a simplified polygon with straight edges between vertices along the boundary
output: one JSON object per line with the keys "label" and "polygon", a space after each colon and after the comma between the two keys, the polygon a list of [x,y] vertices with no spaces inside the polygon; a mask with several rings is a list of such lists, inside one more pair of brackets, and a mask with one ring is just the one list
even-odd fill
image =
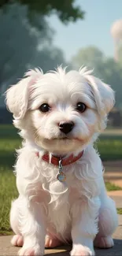
{"label": "hazy bluish-green tree at left, behind the dark overhanging leaves", "polygon": [[[8,6],[9,11],[0,10],[0,87],[2,92],[27,69],[41,66],[44,71],[64,63],[61,50],[53,46],[52,30],[41,17],[43,30],[31,27],[27,19],[27,8],[18,4]],[[54,33],[53,33],[54,34]]]}

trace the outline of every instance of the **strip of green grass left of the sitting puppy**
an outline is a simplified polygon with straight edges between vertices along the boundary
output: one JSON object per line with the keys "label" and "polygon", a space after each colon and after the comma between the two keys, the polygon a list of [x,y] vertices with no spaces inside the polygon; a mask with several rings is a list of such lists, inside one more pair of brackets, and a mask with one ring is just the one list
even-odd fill
{"label": "strip of green grass left of the sitting puppy", "polygon": [[9,209],[17,198],[16,177],[13,175],[15,148],[20,147],[20,138],[13,126],[0,126],[0,234],[9,235]]}

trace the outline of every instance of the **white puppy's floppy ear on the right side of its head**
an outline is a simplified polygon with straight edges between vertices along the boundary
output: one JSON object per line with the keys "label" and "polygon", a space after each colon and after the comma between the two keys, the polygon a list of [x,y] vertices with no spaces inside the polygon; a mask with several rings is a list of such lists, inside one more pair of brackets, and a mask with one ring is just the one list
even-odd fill
{"label": "white puppy's floppy ear on the right side of its head", "polygon": [[[79,71],[79,72],[82,72]],[[92,93],[98,108],[98,113],[101,115],[106,115],[111,109],[113,109],[115,103],[115,93],[113,89],[103,83],[102,80],[91,76],[91,71],[82,72],[82,75],[87,79],[87,83],[91,86]]]}

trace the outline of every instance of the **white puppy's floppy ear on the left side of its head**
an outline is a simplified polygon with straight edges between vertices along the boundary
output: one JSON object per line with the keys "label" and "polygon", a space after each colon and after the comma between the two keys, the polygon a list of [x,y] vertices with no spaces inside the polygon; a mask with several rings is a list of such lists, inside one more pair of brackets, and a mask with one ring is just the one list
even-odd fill
{"label": "white puppy's floppy ear on the left side of its head", "polygon": [[28,97],[30,87],[40,76],[42,70],[34,69],[25,73],[24,78],[19,83],[14,84],[6,91],[6,106],[13,113],[15,119],[22,119],[28,109]]}

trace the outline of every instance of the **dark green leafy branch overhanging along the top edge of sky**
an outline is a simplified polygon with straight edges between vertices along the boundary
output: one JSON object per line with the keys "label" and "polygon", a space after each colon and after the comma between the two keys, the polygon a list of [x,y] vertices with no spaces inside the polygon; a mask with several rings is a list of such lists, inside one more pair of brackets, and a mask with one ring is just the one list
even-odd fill
{"label": "dark green leafy branch overhanging along the top edge of sky", "polygon": [[64,23],[83,19],[84,12],[80,6],[75,5],[75,2],[76,0],[0,0],[0,8],[7,9],[10,3],[26,6],[29,22],[42,30],[43,23],[39,22],[39,17],[49,16],[52,13],[56,13]]}

